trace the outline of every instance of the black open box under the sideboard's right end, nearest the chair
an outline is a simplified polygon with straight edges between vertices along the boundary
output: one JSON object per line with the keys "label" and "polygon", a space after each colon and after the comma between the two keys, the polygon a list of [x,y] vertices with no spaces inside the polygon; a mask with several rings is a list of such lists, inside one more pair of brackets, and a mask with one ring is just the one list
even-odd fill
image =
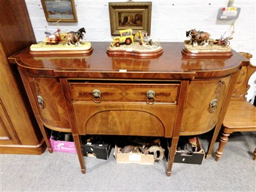
{"label": "black open box under the sideboard's right end, nearest the chair", "polygon": [[[201,148],[200,141],[196,137],[197,150],[191,155],[182,153],[180,150],[176,150],[174,157],[174,163],[189,163],[189,164],[202,164],[205,157],[204,149]],[[179,146],[179,144],[178,144]]]}

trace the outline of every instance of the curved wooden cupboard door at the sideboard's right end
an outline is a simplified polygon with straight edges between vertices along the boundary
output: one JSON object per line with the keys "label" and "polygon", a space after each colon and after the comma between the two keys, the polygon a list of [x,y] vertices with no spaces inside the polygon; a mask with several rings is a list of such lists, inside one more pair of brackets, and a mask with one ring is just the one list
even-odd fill
{"label": "curved wooden cupboard door at the sideboard's right end", "polygon": [[[191,81],[180,135],[202,134],[211,130],[218,120],[230,76],[211,81]],[[217,99],[216,111],[210,113],[211,100]]]}

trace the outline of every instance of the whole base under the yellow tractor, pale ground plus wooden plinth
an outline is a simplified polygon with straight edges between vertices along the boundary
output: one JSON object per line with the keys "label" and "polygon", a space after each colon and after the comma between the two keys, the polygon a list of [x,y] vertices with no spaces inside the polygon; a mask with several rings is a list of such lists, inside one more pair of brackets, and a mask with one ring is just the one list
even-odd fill
{"label": "whole base under the yellow tractor, pale ground plus wooden plinth", "polygon": [[134,56],[138,58],[154,58],[163,54],[163,47],[158,44],[153,45],[140,45],[134,42],[134,45],[120,45],[120,47],[107,48],[109,56]]}

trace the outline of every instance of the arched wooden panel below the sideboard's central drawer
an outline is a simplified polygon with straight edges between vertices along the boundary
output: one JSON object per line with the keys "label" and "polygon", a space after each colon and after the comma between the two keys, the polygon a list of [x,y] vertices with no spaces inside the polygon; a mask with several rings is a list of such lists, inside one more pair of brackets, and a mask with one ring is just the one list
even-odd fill
{"label": "arched wooden panel below the sideboard's central drawer", "polygon": [[164,136],[163,124],[144,111],[102,111],[88,120],[85,130],[87,134]]}

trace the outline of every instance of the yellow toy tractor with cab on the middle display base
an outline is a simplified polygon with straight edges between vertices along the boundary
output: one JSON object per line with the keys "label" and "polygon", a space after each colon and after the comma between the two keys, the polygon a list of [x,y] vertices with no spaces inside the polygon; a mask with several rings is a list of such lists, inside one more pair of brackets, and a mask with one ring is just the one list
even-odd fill
{"label": "yellow toy tractor with cab on the middle display base", "polygon": [[127,45],[133,44],[134,36],[132,35],[132,29],[120,30],[119,33],[120,33],[120,36],[116,36],[113,38],[111,47],[113,47],[114,45],[116,47],[119,47],[120,45],[123,45],[123,44],[127,44]]}

